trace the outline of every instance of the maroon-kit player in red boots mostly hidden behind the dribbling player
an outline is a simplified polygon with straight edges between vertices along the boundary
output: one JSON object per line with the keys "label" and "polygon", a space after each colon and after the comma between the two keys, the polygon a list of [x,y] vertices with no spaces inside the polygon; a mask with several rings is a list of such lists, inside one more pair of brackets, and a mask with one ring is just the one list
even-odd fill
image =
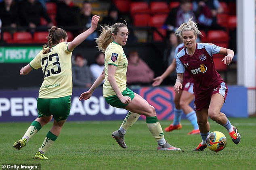
{"label": "maroon-kit player in red boots mostly hidden behind the dribbling player", "polygon": [[[166,71],[159,77],[154,78],[154,82],[152,86],[159,86],[163,80],[170,75],[174,69],[176,68],[176,54],[178,51],[183,49],[184,44],[180,44],[175,49],[175,57],[172,60],[171,65],[166,69]],[[194,99],[194,92],[193,92],[193,78],[189,75],[187,71],[184,73],[183,78],[183,89],[182,92],[177,93],[174,97],[174,119],[173,123],[166,127],[164,130],[167,132],[173,131],[175,129],[181,129],[182,125],[180,124],[181,115],[184,112],[186,114],[187,119],[189,119],[190,123],[193,125],[194,129],[188,133],[188,135],[195,135],[199,134],[200,131],[197,125],[197,117],[195,111],[189,106],[189,103],[192,102]]]}

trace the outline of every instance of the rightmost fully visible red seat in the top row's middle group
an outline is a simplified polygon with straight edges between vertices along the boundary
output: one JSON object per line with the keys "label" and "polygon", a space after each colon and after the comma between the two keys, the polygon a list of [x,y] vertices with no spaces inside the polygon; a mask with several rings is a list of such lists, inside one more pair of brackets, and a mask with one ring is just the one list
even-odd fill
{"label": "rightmost fully visible red seat in the top row's middle group", "polygon": [[151,14],[168,14],[170,8],[166,2],[151,2],[150,12]]}

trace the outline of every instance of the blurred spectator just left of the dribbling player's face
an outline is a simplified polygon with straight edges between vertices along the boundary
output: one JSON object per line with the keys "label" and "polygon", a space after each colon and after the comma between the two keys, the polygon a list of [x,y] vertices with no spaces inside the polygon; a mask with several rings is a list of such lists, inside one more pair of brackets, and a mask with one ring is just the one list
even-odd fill
{"label": "blurred spectator just left of the dribbling player's face", "polygon": [[[175,35],[174,31],[171,31],[169,35],[169,41],[168,41],[168,46],[166,49],[164,49],[164,68],[167,69],[173,61],[174,54],[175,54],[175,49],[176,47],[181,43],[181,39]],[[177,78],[177,73],[176,70],[174,69],[172,73],[169,75],[170,80],[168,80],[168,84],[175,84],[176,78]]]}

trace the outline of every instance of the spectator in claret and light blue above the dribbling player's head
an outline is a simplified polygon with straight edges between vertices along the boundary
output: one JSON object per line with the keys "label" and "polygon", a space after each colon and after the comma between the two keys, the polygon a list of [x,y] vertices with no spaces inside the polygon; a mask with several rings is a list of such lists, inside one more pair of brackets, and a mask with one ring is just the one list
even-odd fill
{"label": "spectator in claret and light blue above the dribbling player's head", "polygon": [[193,11],[198,20],[198,28],[204,31],[209,29],[224,29],[217,24],[217,14],[223,12],[218,0],[194,0]]}

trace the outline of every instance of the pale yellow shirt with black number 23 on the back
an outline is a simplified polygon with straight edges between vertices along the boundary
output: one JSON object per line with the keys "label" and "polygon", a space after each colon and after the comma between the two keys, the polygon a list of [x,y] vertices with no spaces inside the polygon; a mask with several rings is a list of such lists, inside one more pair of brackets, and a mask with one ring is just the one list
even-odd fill
{"label": "pale yellow shirt with black number 23 on the back", "polygon": [[39,98],[59,98],[72,94],[72,52],[68,51],[68,44],[59,43],[46,54],[43,54],[42,50],[30,61],[29,65],[32,68],[42,68],[44,74]]}

